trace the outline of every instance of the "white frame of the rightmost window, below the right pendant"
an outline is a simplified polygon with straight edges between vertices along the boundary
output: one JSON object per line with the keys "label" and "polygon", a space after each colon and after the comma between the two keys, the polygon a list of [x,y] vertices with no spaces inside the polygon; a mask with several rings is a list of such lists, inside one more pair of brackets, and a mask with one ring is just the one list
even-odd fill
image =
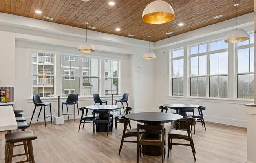
{"label": "white frame of the rightmost window, below the right pendant", "polygon": [[[250,33],[248,33],[249,35],[250,34],[254,34],[253,32],[250,32]],[[255,37],[255,36],[254,36]],[[255,39],[254,39],[255,40]],[[236,93],[236,100],[252,100],[252,98],[238,98],[238,75],[251,75],[251,74],[254,74],[254,72],[244,72],[244,73],[238,73],[238,50],[239,49],[247,49],[247,48],[252,48],[252,47],[254,47],[254,43],[250,43],[249,42],[249,44],[246,44],[246,45],[240,45],[240,46],[238,46],[238,43],[235,43],[235,85],[236,85],[236,87],[235,87],[235,91],[234,91],[234,93]],[[255,47],[254,47],[255,48]],[[250,50],[249,50],[250,51]],[[254,52],[255,53],[255,52]],[[255,58],[254,58],[254,60],[255,60]],[[250,64],[250,56],[249,56],[249,64]],[[250,65],[249,65],[249,68],[250,68]],[[250,69],[249,69],[249,71],[250,71]],[[255,74],[254,74],[255,75]],[[254,81],[255,82],[255,81]],[[249,88],[250,89],[250,88]],[[248,91],[249,91],[249,89],[248,89]],[[256,96],[255,95],[255,92],[254,92],[254,96]]]}

